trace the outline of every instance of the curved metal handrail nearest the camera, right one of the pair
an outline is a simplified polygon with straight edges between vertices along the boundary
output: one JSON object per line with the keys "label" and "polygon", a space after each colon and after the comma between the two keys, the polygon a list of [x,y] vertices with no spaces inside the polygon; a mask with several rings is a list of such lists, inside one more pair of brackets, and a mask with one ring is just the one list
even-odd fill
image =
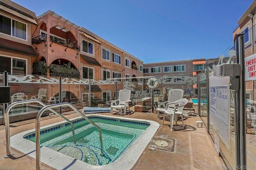
{"label": "curved metal handrail nearest the camera, right one of the pair", "polygon": [[88,117],[86,117],[83,113],[81,113],[74,105],[68,102],[64,103],[57,103],[53,105],[48,105],[43,107],[37,114],[36,116],[36,170],[40,170],[40,117],[44,113],[44,111],[48,109],[52,109],[55,107],[62,107],[62,106],[69,106],[71,109],[76,111],[80,116],[82,116],[84,119],[86,119],[89,123],[94,125],[94,127],[98,128],[100,131],[100,147],[101,147],[101,154],[104,155],[103,153],[103,145],[102,145],[102,130],[98,125],[96,125],[93,121],[91,121]]}

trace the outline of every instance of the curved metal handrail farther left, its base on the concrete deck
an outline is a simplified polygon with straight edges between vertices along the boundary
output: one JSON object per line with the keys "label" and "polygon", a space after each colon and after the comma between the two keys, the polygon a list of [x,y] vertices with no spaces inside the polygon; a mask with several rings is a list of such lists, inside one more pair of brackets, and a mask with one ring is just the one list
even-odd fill
{"label": "curved metal handrail farther left, its base on the concrete deck", "polygon": [[[16,105],[21,105],[21,104],[26,104],[26,103],[38,103],[42,106],[46,106],[45,103],[43,103],[42,101],[38,100],[38,99],[32,99],[32,100],[26,100],[26,101],[16,101],[12,104],[10,104],[5,111],[5,119],[4,119],[4,123],[5,123],[5,137],[6,137],[6,156],[4,156],[4,158],[9,158],[11,156],[13,156],[13,154],[11,153],[11,146],[10,146],[10,121],[9,121],[9,111],[12,109],[12,107],[16,106]],[[67,121],[68,123],[71,124],[72,126],[72,134],[73,134],[73,139],[74,139],[74,143],[76,143],[76,138],[75,138],[75,132],[74,132],[74,125],[73,123],[68,120],[66,117],[60,115],[58,112],[54,111],[53,109],[50,109],[50,111],[52,111],[52,113],[58,115],[59,117],[61,117],[62,119],[64,119],[65,121]]]}

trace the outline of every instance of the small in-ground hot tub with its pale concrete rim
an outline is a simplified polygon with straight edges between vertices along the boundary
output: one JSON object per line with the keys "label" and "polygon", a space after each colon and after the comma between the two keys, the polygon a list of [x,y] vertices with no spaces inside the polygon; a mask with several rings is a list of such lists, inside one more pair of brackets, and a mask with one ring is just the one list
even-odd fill
{"label": "small in-ground hot tub with its pale concrete rim", "polygon": [[[71,126],[66,121],[40,128],[41,161],[56,169],[120,169],[121,166],[122,169],[130,169],[159,127],[154,121],[140,119],[105,115],[89,115],[88,118],[102,128],[104,156],[100,155],[98,130],[81,117],[72,120],[76,144],[72,140]],[[11,146],[29,153],[35,150],[33,141],[35,130],[29,130],[12,136]],[[35,157],[33,153],[29,155]],[[58,158],[60,156],[61,159]]]}

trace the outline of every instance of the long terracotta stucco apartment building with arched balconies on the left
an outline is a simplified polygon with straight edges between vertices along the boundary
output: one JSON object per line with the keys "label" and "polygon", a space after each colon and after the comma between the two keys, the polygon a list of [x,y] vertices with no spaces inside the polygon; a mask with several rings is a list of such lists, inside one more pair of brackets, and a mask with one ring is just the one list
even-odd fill
{"label": "long terracotta stucco apartment building with arched balconies on the left", "polygon": [[[36,14],[10,0],[0,2],[0,61],[4,63],[0,72],[13,75],[69,75],[80,79],[106,80],[120,77],[139,77],[143,75],[143,61],[116,45],[100,38],[83,27],[77,26],[53,11]],[[42,66],[42,62],[44,65]],[[42,69],[51,66],[44,72]],[[58,71],[55,67],[66,65],[72,73]],[[52,69],[51,69],[52,68]],[[140,68],[140,70],[139,70]],[[39,70],[39,71],[38,71]],[[24,87],[22,87],[24,88]],[[22,91],[12,89],[12,93]],[[30,87],[29,89],[33,89]],[[47,98],[58,93],[58,85],[38,85],[37,89],[47,89]],[[118,83],[118,89],[123,83]],[[88,92],[86,86],[67,87],[77,97]],[[94,85],[92,96],[113,99],[114,85]],[[35,91],[37,93],[37,91]],[[96,93],[96,94],[94,94]],[[28,98],[30,98],[28,94]]]}

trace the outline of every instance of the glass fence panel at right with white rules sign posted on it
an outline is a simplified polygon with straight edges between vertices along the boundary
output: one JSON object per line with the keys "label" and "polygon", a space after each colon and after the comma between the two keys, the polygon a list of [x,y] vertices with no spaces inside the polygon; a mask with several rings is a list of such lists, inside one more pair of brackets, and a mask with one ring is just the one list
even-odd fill
{"label": "glass fence panel at right with white rules sign posted on it", "polygon": [[[234,45],[231,45],[218,58],[207,60],[209,65],[210,86],[210,94],[207,94],[210,98],[210,105],[208,106],[210,107],[209,133],[214,141],[215,136],[218,136],[220,140],[220,154],[229,169],[235,169],[236,165],[234,95],[233,91],[229,89],[230,78],[214,76],[214,67],[221,64],[236,63],[235,59],[236,50]],[[202,73],[202,76],[203,75],[204,73]],[[200,85],[202,85],[202,83],[200,83]],[[203,107],[200,107],[200,109],[203,109]],[[205,118],[203,118],[204,114],[201,117],[202,120],[205,121]]]}

